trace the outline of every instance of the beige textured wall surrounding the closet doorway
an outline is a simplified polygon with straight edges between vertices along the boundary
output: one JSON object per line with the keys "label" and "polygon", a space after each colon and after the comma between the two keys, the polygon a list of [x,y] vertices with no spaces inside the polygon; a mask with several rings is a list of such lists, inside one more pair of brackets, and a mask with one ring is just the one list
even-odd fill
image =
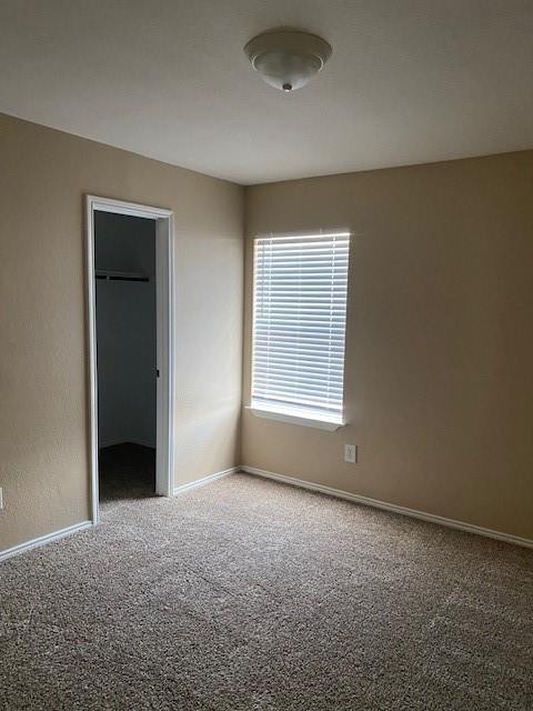
{"label": "beige textured wall surrounding the closet doorway", "polygon": [[83,194],[175,213],[175,484],[239,458],[242,189],[0,116],[0,550],[89,518]]}

